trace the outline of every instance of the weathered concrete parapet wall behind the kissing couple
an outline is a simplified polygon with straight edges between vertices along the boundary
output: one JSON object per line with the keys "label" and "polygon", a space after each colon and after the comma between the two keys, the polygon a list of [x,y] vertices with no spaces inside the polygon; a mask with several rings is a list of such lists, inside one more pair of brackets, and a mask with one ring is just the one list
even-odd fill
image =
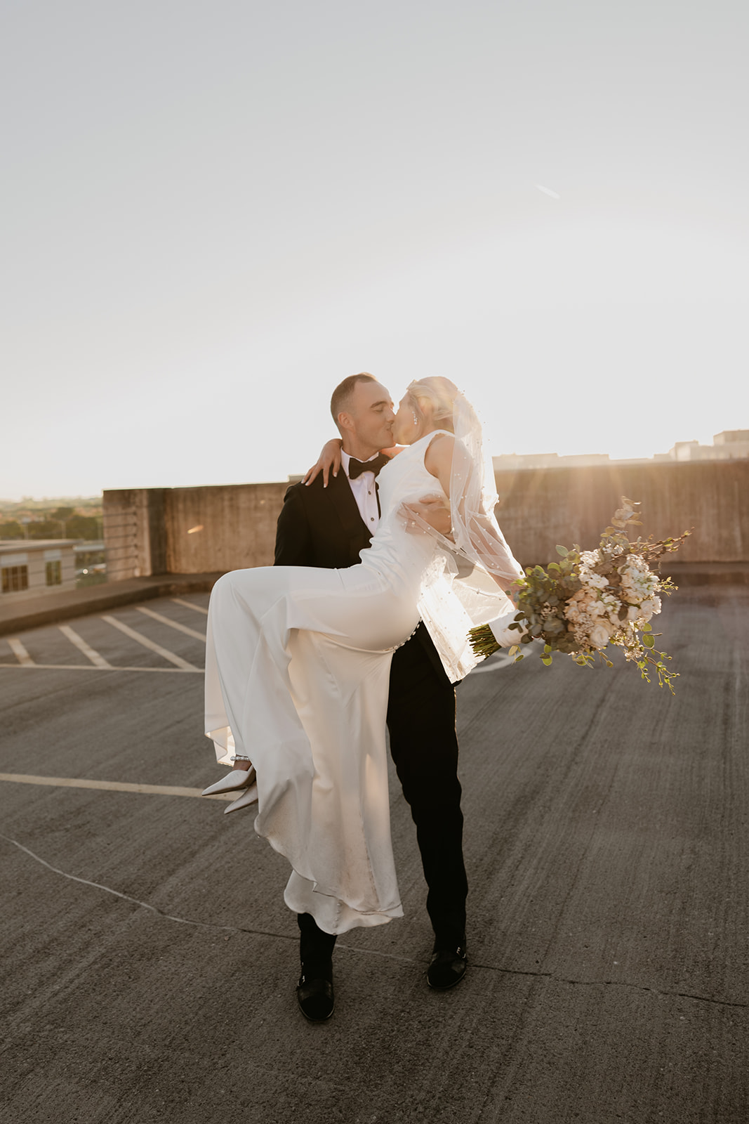
{"label": "weathered concrete parapet wall behind the kissing couple", "polygon": [[[643,537],[694,527],[679,562],[749,561],[749,460],[500,472],[496,484],[500,526],[523,565],[551,561],[557,543],[595,546],[621,496],[641,502]],[[106,491],[110,580],[136,575],[135,568],[144,575],[270,565],[286,488]]]}

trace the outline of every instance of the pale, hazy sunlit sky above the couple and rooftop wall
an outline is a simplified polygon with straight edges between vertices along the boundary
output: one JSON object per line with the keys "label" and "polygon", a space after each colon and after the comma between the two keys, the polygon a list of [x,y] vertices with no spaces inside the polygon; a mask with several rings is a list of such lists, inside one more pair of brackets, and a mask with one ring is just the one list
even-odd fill
{"label": "pale, hazy sunlit sky above the couple and rooftop wall", "polygon": [[749,428],[749,7],[0,0],[0,497],[285,480],[332,388],[501,453]]}

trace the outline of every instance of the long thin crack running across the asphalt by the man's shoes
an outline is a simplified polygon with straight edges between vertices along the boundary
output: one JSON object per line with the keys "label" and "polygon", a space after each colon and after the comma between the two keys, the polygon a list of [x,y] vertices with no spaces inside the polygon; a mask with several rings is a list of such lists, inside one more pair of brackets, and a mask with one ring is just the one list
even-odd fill
{"label": "long thin crack running across the asphalt by the man's shoes", "polygon": [[[295,935],[285,936],[283,933],[271,933],[267,930],[262,930],[262,928],[245,928],[241,925],[216,925],[211,924],[210,922],[191,921],[188,917],[175,917],[173,914],[164,913],[164,910],[159,909],[157,906],[148,905],[147,901],[140,901],[138,898],[134,898],[129,894],[122,894],[120,892],[120,890],[115,890],[110,886],[104,886],[102,882],[92,882],[88,878],[79,878],[77,874],[68,874],[67,871],[61,870],[58,867],[53,867],[53,864],[51,862],[47,862],[46,859],[43,859],[40,855],[35,854],[34,851],[30,851],[27,846],[24,846],[22,843],[18,842],[18,840],[13,840],[9,835],[4,835],[2,832],[0,832],[0,839],[6,840],[7,843],[12,843],[12,845],[17,846],[19,851],[22,851],[25,854],[29,855],[29,858],[34,859],[43,867],[46,867],[47,870],[52,870],[55,874],[61,874],[62,878],[68,878],[71,881],[80,882],[82,886],[92,886],[97,890],[104,890],[106,894],[112,894],[116,898],[121,898],[124,901],[130,901],[133,903],[133,905],[141,906],[144,909],[148,909],[150,913],[156,914],[157,917],[162,917],[165,921],[173,921],[177,925],[192,925],[195,928],[209,928],[222,933],[247,933],[250,936],[272,936],[275,940],[291,941],[294,944],[296,943],[298,939]],[[354,952],[357,953],[358,955],[381,957],[386,960],[398,960],[401,963],[407,963],[407,964],[417,964],[420,962],[421,963],[426,962],[421,958],[413,959],[410,957],[400,957],[392,952],[377,952],[374,949],[356,949],[353,945],[345,944],[341,941],[337,942],[336,948],[345,949],[347,952]],[[531,971],[530,969],[523,970],[520,968],[497,968],[495,964],[482,964],[475,960],[471,961],[471,967],[481,968],[484,971],[499,972],[502,976],[528,976],[531,977],[532,979],[552,980],[555,984],[569,984],[573,987],[621,987],[621,988],[628,988],[629,990],[648,991],[650,995],[656,995],[656,996],[665,996],[677,999],[694,999],[697,1003],[707,1003],[718,1007],[746,1008],[749,1006],[749,1003],[739,1003],[731,999],[715,999],[712,996],[696,995],[691,991],[670,991],[667,989],[648,987],[645,984],[628,984],[624,980],[570,979],[564,976],[556,976],[554,972]]]}

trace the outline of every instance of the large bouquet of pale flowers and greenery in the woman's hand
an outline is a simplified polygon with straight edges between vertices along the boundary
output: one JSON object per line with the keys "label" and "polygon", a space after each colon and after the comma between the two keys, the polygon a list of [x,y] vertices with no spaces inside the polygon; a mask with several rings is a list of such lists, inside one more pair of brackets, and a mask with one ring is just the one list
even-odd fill
{"label": "large bouquet of pale flowers and greenery in the woman's hand", "polygon": [[[652,536],[630,542],[627,528],[641,526],[634,517],[637,507],[622,496],[612,525],[594,551],[557,546],[558,562],[550,562],[546,570],[529,566],[526,577],[517,580],[518,613],[509,627],[517,629],[518,644],[511,646],[510,655],[522,660],[520,645],[541,641],[546,664],[555,652],[564,652],[583,667],[591,667],[597,655],[611,668],[604,652],[614,644],[637,664],[642,679],[650,682],[650,676],[657,674],[658,686],[674,694],[672,680],[677,672],[668,670],[665,661],[670,656],[656,647],[659,634],[652,632],[650,619],[660,613],[660,595],[677,588],[670,578],[660,577],[660,559],[677,551],[692,532],[659,542],[652,542]],[[488,625],[472,628],[469,640],[477,655],[491,655],[503,646]]]}

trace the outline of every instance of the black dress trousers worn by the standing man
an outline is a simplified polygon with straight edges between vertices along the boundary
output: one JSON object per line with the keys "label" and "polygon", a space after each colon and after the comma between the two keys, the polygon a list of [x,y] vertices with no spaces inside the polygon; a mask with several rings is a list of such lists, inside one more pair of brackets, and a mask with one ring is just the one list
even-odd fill
{"label": "black dress trousers worn by the standing man", "polygon": [[[455,687],[439,667],[423,625],[393,655],[387,728],[417,827],[435,946],[465,945],[468,881],[463,861]],[[298,921],[302,962],[328,961],[336,937],[318,928],[310,914],[299,914]]]}

